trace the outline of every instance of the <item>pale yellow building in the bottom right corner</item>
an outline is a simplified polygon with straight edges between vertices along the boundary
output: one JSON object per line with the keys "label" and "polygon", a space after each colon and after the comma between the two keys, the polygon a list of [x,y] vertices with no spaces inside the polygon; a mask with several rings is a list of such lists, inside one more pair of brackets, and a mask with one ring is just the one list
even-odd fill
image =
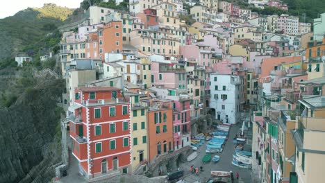
{"label": "pale yellow building in the bottom right corner", "polygon": [[325,179],[325,96],[313,98],[314,105],[307,99],[301,104],[311,109],[317,105],[319,112],[315,112],[313,117],[310,113],[298,117],[296,129],[291,131],[296,152],[290,182],[323,182]]}

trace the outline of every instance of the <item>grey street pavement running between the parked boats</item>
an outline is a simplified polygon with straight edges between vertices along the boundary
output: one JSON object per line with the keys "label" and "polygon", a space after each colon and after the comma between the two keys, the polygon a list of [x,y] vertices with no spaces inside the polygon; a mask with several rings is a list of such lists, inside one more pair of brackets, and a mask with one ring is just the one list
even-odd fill
{"label": "grey street pavement running between the parked boats", "polygon": [[[237,166],[234,166],[231,164],[231,161],[233,159],[233,153],[235,152],[235,145],[233,144],[233,137],[235,137],[235,134],[237,134],[238,130],[240,129],[242,123],[239,123],[238,125],[231,126],[228,141],[226,141],[226,145],[224,146],[224,151],[222,153],[213,153],[211,154],[212,157],[214,155],[219,155],[220,160],[215,164],[214,162],[210,162],[208,164],[203,164],[202,158],[204,155],[206,155],[206,143],[204,143],[199,149],[197,150],[197,153],[199,155],[196,159],[192,160],[192,162],[185,162],[184,164],[181,164],[180,169],[185,171],[185,175],[183,177],[183,180],[185,182],[195,182],[195,181],[201,181],[206,182],[210,178],[211,171],[233,171],[234,178],[236,173],[238,172],[240,175],[239,180],[235,180],[235,182],[244,182],[244,183],[250,183],[251,182],[251,169],[244,169],[239,168]],[[244,149],[249,150],[249,149]],[[194,175],[190,173],[190,166],[194,165],[194,167],[200,167],[203,166],[203,171],[199,173],[199,175]],[[235,178],[236,179],[236,178]]]}

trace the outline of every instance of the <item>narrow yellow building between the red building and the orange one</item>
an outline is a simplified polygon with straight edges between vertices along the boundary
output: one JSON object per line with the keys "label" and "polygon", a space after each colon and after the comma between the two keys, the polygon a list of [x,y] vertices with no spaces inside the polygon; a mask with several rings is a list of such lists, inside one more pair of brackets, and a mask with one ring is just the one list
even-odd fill
{"label": "narrow yellow building between the red building and the orange one", "polygon": [[[128,95],[128,94],[124,94]],[[148,134],[147,134],[147,103],[140,101],[138,94],[131,97],[131,167],[135,174],[147,169],[148,159]]]}

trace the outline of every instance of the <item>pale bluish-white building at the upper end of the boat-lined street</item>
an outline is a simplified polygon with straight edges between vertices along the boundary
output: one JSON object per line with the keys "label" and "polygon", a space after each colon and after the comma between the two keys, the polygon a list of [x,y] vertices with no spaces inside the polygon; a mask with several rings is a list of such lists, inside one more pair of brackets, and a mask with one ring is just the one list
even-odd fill
{"label": "pale bluish-white building at the upper end of the boat-lined street", "polygon": [[223,123],[240,120],[240,77],[211,73],[210,107],[215,109],[215,119]]}

